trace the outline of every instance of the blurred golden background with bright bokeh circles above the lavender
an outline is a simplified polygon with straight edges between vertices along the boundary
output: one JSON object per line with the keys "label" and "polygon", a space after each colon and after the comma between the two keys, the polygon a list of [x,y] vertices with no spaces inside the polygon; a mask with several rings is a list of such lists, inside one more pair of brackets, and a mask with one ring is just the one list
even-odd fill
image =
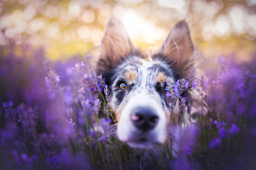
{"label": "blurred golden background with bright bokeh circles above the lavender", "polygon": [[248,62],[255,56],[255,0],[1,0],[1,53],[21,56],[29,44],[53,60],[84,55],[99,46],[111,16],[142,50],[160,46],[175,23],[186,20],[204,57]]}

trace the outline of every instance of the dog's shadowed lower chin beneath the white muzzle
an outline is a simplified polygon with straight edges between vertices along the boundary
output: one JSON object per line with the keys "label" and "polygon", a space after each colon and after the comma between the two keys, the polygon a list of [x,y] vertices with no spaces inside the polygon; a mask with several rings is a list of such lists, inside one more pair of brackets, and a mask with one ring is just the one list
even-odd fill
{"label": "dog's shadowed lower chin beneath the white muzzle", "polygon": [[138,148],[138,149],[151,149],[151,148],[161,145],[161,143],[158,143],[155,141],[150,141],[147,139],[131,140],[131,141],[126,141],[126,143],[130,147]]}

